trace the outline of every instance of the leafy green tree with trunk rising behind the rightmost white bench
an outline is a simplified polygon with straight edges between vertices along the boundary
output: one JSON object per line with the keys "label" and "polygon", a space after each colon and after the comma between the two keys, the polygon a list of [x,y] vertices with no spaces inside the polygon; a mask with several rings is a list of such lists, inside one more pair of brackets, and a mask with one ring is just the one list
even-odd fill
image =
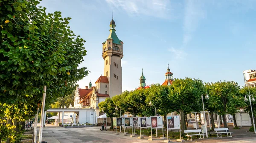
{"label": "leafy green tree with trunk rising behind the rightmost white bench", "polygon": [[[227,128],[226,114],[234,112],[241,106],[237,96],[239,96],[240,87],[234,81],[218,81],[206,84],[209,100],[209,108],[215,108],[215,113],[222,115],[224,127]],[[229,111],[228,111],[229,110]]]}

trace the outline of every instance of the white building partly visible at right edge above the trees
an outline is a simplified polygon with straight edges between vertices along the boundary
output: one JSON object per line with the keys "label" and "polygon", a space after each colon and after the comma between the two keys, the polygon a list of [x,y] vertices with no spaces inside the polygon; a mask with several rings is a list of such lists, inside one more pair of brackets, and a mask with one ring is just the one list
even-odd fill
{"label": "white building partly visible at right edge above the trees", "polygon": [[245,86],[256,87],[256,70],[244,70],[243,74]]}

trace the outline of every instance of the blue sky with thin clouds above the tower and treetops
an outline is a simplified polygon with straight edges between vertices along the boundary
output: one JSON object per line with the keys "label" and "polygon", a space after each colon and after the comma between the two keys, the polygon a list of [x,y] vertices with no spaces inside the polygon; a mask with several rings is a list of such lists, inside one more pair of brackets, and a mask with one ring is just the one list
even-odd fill
{"label": "blue sky with thin clouds above the tower and treetops", "polygon": [[[122,90],[162,84],[167,62],[173,78],[236,81],[255,69],[256,0],[43,0],[47,12],[71,17],[70,28],[86,40],[81,67],[90,70],[80,88],[104,72],[102,42],[109,23],[124,42]],[[254,61],[254,62],[253,62]]]}

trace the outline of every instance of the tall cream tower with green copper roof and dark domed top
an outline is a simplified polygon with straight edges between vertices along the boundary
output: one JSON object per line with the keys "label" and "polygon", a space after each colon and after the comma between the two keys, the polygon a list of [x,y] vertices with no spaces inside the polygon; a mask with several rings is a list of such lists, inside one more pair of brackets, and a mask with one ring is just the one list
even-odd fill
{"label": "tall cream tower with green copper roof and dark domed top", "polygon": [[122,65],[123,42],[116,35],[116,23],[110,22],[110,34],[102,43],[102,57],[104,59],[104,76],[108,77],[108,93],[110,97],[122,93]]}

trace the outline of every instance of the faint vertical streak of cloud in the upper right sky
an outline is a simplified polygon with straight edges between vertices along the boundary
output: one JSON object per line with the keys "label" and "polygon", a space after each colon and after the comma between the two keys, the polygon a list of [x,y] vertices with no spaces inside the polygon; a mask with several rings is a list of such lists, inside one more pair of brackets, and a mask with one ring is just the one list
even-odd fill
{"label": "faint vertical streak of cloud in the upper right sky", "polygon": [[203,9],[204,1],[201,0],[186,0],[185,14],[183,22],[183,47],[192,39],[193,33],[198,28],[201,19],[206,17],[206,11]]}

